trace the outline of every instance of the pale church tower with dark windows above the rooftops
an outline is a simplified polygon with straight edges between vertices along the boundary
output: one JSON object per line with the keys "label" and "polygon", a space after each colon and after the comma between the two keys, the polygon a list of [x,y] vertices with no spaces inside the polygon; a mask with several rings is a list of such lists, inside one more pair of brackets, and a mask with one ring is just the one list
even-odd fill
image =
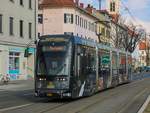
{"label": "pale church tower with dark windows above the rooftops", "polygon": [[120,12],[120,0],[106,0],[107,11],[111,15],[119,15]]}

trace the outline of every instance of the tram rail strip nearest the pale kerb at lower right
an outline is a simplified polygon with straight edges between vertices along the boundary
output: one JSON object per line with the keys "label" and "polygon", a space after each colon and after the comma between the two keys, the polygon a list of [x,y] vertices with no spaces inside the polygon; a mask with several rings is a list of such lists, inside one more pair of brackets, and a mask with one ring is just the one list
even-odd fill
{"label": "tram rail strip nearest the pale kerb at lower right", "polygon": [[131,106],[131,104],[137,99],[139,98],[143,93],[145,93],[147,91],[148,88],[145,88],[143,91],[141,91],[139,94],[137,94],[129,103],[127,103],[126,105],[124,105],[124,107],[117,113],[123,113],[129,106]]}

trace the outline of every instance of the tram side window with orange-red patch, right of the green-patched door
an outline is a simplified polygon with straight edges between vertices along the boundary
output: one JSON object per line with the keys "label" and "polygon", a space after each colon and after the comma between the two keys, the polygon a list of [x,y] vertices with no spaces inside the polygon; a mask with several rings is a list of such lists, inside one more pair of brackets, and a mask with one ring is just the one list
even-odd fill
{"label": "tram side window with orange-red patch, right of the green-patched door", "polygon": [[119,58],[119,74],[124,75],[126,74],[126,56],[125,55],[120,55]]}

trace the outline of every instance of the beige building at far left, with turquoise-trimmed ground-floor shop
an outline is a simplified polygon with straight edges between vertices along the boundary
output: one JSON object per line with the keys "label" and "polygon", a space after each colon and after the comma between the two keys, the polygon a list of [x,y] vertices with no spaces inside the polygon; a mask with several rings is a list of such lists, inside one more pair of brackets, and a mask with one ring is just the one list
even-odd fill
{"label": "beige building at far left, with turquoise-trimmed ground-floor shop", "polygon": [[33,77],[36,6],[36,0],[0,1],[0,74],[11,79]]}

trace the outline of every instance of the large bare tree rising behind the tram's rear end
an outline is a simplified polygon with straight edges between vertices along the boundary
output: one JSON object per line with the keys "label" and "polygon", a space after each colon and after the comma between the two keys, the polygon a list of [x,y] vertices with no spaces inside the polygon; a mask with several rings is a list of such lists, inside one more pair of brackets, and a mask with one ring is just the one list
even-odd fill
{"label": "large bare tree rising behind the tram's rear end", "polygon": [[132,23],[126,25],[125,21],[121,16],[112,21],[112,44],[115,48],[123,48],[125,51],[133,53],[139,41],[143,38],[145,31]]}

